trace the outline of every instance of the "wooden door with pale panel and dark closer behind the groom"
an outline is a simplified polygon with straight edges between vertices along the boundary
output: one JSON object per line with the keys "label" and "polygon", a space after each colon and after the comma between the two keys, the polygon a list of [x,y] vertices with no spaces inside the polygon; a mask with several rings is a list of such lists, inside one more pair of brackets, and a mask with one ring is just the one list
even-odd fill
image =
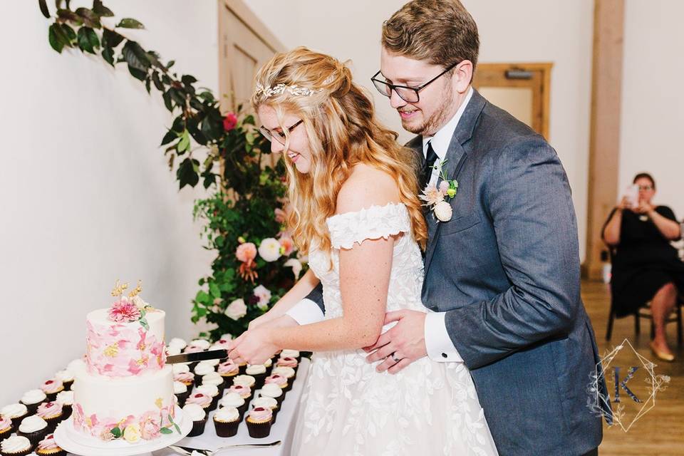
{"label": "wooden door with pale panel and dark closer behind the groom", "polygon": [[549,140],[552,63],[479,63],[473,87]]}

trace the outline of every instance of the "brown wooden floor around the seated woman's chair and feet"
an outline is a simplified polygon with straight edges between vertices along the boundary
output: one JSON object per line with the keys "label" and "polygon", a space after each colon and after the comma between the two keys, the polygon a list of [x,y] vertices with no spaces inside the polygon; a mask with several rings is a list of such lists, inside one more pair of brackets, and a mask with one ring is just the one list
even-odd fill
{"label": "brown wooden floor around the seated woman's chair and feet", "polygon": [[[655,374],[670,376],[668,388],[657,393],[653,408],[636,420],[627,432],[617,425],[608,427],[604,423],[603,442],[598,449],[599,455],[684,455],[684,350],[683,347],[677,346],[676,323],[668,325],[668,342],[678,358],[673,363],[665,363],[655,358],[648,347],[650,326],[647,320],[641,321],[640,336],[635,335],[634,318],[626,317],[616,320],[611,341],[606,341],[606,325],[610,308],[610,293],[607,285],[598,282],[583,282],[582,297],[594,326],[596,341],[602,355],[627,339],[641,356],[656,364]],[[636,356],[633,357],[636,358]],[[631,421],[627,420],[626,423],[631,423]]]}

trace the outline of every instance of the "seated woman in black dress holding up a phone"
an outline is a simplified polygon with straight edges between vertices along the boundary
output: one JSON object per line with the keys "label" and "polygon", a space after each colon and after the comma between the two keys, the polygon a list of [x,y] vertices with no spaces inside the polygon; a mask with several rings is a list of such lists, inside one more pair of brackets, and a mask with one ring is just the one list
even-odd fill
{"label": "seated woman in black dress holding up a phone", "polygon": [[651,350],[663,361],[674,361],[665,336],[665,319],[684,291],[684,263],[670,241],[681,237],[680,225],[667,206],[653,206],[655,181],[647,173],[634,177],[638,205],[623,197],[603,226],[603,241],[615,252],[611,292],[616,316],[634,314],[651,301],[655,338]]}

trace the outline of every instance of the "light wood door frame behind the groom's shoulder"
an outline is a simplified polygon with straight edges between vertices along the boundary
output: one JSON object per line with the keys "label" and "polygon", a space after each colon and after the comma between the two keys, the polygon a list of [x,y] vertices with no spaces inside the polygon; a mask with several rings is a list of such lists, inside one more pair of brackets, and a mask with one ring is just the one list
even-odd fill
{"label": "light wood door frame behind the groom's shoulder", "polygon": [[[494,72],[500,75],[505,75],[508,70],[519,71],[539,71],[541,78],[539,80],[539,87],[534,87],[530,84],[529,79],[510,79],[503,76],[502,79],[492,78],[486,79],[487,87],[530,87],[532,88],[532,119],[533,128],[540,133],[546,140],[549,140],[549,107],[551,105],[551,69],[554,64],[551,62],[544,63],[477,63],[475,68],[475,77],[473,78],[473,87],[476,87],[475,78],[483,72]],[[477,86],[483,85],[485,81],[477,81]],[[477,88],[477,87],[476,87]]]}

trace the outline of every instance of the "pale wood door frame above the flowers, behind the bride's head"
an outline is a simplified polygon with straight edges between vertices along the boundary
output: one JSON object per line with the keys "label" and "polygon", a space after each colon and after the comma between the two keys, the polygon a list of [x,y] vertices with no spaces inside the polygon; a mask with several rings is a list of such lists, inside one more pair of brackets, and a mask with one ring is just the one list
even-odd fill
{"label": "pale wood door frame above the flowers, behind the bride's head", "polygon": [[[230,77],[229,56],[227,55],[227,40],[226,36],[229,31],[224,16],[224,9],[228,9],[234,14],[237,19],[249,28],[264,45],[271,49],[274,53],[282,52],[285,46],[276,36],[271,33],[263,22],[257,17],[254,12],[249,9],[249,6],[243,0],[217,0],[218,13],[218,58],[219,58],[219,97],[221,108],[224,111],[234,110],[234,99],[232,93],[234,92],[232,86],[232,79]],[[224,95],[229,95],[228,99]]]}

